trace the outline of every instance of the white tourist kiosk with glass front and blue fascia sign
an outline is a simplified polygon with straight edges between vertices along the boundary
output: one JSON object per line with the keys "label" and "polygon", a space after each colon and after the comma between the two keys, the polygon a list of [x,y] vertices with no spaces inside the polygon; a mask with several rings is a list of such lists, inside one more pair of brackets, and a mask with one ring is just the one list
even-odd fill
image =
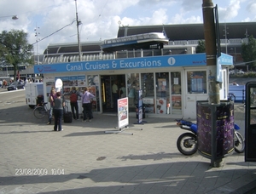
{"label": "white tourist kiosk with glass front and blue fascia sign", "polygon": [[[222,54],[220,61],[220,97],[225,100],[228,95],[228,68],[233,65],[233,59]],[[144,111],[151,116],[195,119],[195,102],[208,98],[209,70],[205,54],[63,62],[34,66],[34,71],[44,74],[44,99],[47,99],[55,80],[61,78],[67,102],[72,87],[80,92],[85,86],[90,87],[96,96],[94,111],[99,113],[117,112],[113,109],[112,85],[115,81],[119,87],[125,83],[129,111],[136,111],[138,91],[142,90]],[[82,111],[80,101],[79,106]]]}

